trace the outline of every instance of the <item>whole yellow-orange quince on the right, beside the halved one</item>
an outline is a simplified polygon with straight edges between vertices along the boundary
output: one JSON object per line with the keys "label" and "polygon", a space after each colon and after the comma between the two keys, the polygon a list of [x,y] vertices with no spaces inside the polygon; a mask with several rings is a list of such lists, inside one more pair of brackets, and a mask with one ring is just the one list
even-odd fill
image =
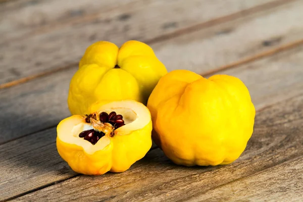
{"label": "whole yellow-orange quince on the right, beside the halved one", "polygon": [[162,77],[147,107],[154,141],[174,163],[185,166],[235,161],[252,134],[256,114],[240,79],[206,79],[186,70]]}

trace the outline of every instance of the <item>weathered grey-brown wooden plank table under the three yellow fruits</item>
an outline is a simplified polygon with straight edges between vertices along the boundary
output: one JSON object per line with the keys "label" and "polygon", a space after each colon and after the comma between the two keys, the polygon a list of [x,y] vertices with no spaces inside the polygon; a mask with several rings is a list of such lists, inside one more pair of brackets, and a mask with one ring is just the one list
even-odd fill
{"label": "weathered grey-brown wooden plank table under the three yellow fruits", "polygon": [[[303,1],[0,1],[0,200],[303,201]],[[153,146],[128,171],[73,172],[57,153],[69,82],[97,40],[136,39],[173,69],[248,87],[255,130],[234,163],[174,165]]]}

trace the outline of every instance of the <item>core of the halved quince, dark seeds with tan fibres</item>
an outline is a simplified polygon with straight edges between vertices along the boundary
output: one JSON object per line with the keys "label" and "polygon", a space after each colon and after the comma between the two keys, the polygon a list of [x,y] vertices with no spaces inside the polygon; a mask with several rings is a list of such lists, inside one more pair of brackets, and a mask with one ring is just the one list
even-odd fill
{"label": "core of the halved quince, dark seeds with tan fibres", "polygon": [[92,144],[97,143],[106,134],[114,136],[114,131],[125,125],[123,116],[120,114],[117,115],[114,111],[110,114],[102,112],[99,115],[93,113],[85,116],[84,122],[91,124],[93,128],[80,132],[79,137],[84,138]]}

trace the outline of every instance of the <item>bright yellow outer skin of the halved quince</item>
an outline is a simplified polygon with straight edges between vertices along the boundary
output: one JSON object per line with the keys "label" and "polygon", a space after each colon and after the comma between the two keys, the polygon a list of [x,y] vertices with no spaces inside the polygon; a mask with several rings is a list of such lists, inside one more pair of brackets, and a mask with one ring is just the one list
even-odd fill
{"label": "bright yellow outer skin of the halved quince", "polygon": [[[145,106],[143,107],[146,108]],[[91,106],[93,110],[96,108],[94,105]],[[90,113],[91,112],[92,111],[90,111]],[[72,126],[81,122],[83,122],[83,117],[80,115],[68,117],[62,120],[57,126],[57,134],[60,132],[68,132]],[[124,172],[136,161],[142,159],[150,149],[152,144],[152,128],[153,124],[150,120],[145,127],[134,130],[129,134],[116,134],[113,137],[106,137],[110,138],[110,144],[101,150],[95,151],[93,154],[88,154],[82,146],[62,141],[59,135],[57,135],[57,150],[72,170],[77,173],[102,175],[108,171]],[[88,141],[87,144],[94,146]]]}

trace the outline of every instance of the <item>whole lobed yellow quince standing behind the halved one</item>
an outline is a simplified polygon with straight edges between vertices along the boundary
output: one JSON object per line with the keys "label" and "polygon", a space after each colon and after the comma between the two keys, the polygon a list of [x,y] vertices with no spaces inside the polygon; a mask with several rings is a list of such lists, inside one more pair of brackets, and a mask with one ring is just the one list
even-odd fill
{"label": "whole lobed yellow quince standing behind the halved one", "polygon": [[83,115],[96,102],[125,99],[145,105],[166,73],[165,66],[145,43],[131,40],[119,49],[108,41],[95,42],[86,49],[71,79],[69,110],[73,115]]}

